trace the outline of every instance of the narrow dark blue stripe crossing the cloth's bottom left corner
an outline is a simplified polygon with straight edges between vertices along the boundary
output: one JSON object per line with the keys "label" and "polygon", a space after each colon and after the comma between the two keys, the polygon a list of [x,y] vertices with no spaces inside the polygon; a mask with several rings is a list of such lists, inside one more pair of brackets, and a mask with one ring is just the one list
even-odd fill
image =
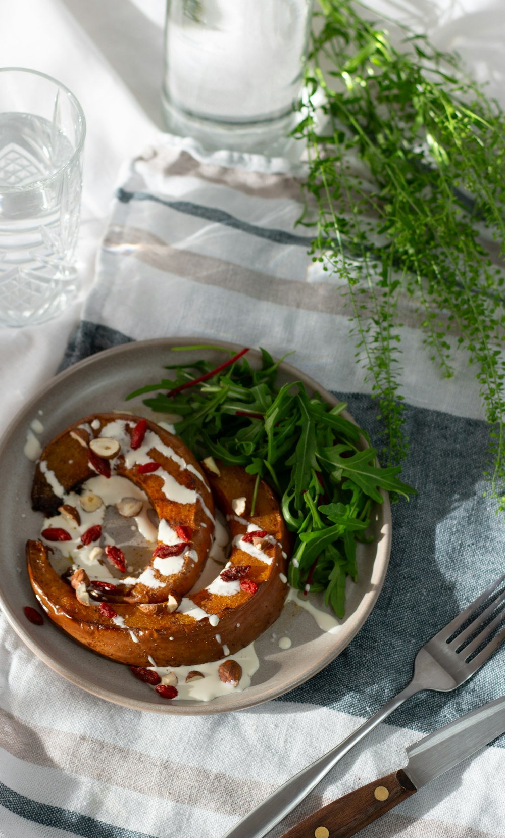
{"label": "narrow dark blue stripe crossing the cloth's bottom left corner", "polygon": [[82,838],[152,838],[145,832],[125,830],[121,826],[106,824],[80,812],[31,800],[3,783],[0,783],[0,806],[35,824],[66,830],[71,835],[80,835]]}

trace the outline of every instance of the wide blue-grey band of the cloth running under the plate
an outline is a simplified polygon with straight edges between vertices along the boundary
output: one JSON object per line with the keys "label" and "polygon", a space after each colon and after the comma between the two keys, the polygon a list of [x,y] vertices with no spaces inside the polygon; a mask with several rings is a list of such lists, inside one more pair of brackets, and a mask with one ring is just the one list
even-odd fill
{"label": "wide blue-grey band of the cloth running under the plate", "polygon": [[[115,329],[80,323],[64,366],[130,340]],[[376,402],[358,393],[335,395],[348,402],[349,411],[380,448]],[[336,660],[276,701],[371,715],[385,696],[393,696],[410,680],[420,646],[503,572],[505,530],[492,500],[483,497],[486,422],[405,405],[405,429],[410,453],[403,477],[419,494],[408,503],[393,504],[391,560],[374,611]],[[504,655],[505,649],[498,650],[449,696],[415,696],[389,723],[430,732],[491,701],[503,691]],[[494,744],[505,747],[505,737]]]}

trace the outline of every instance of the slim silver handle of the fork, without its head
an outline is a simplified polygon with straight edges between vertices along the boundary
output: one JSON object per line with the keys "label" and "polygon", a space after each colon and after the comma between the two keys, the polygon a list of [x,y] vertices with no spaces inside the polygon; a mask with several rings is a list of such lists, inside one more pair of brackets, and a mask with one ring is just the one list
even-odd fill
{"label": "slim silver handle of the fork, without its head", "polygon": [[354,745],[358,744],[367,733],[373,731],[374,727],[377,727],[380,722],[383,722],[397,707],[403,704],[404,701],[407,701],[410,696],[414,696],[416,692],[420,692],[423,689],[424,687],[422,685],[411,681],[405,687],[405,690],[402,690],[398,696],[394,696],[391,701],[384,704],[374,716],[358,727],[347,739],[340,742],[337,747],[333,747],[331,751],[323,754],[314,763],[307,765],[307,768],[302,768],[299,773],[287,780],[284,785],[281,785],[269,797],[265,798],[249,815],[245,815],[245,818],[242,818],[238,824],[233,826],[224,835],[224,838],[263,838],[263,835],[270,832],[304,797],[307,797],[307,794],[317,786],[328,771]]}

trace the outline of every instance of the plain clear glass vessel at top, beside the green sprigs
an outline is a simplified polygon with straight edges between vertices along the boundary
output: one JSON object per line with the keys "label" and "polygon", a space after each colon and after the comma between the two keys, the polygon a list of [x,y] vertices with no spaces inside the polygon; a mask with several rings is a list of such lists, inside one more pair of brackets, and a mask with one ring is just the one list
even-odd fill
{"label": "plain clear glass vessel at top, beside the green sprigs", "polygon": [[312,0],[167,0],[167,127],[207,147],[282,153],[296,124]]}

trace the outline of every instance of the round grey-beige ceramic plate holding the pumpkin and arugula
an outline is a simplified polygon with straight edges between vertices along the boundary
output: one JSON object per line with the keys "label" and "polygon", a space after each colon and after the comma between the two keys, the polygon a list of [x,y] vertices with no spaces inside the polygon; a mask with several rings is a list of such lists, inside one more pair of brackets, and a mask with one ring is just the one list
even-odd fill
{"label": "round grey-beige ceramic plate holding the pumpkin and arugula", "polygon": [[[30,505],[30,490],[34,464],[23,453],[28,428],[33,419],[44,425],[40,434],[43,446],[81,416],[106,413],[124,407],[147,415],[142,399],[128,401],[125,396],[148,382],[163,377],[163,366],[183,363],[191,356],[183,352],[172,353],[173,346],[201,344],[201,338],[156,339],[124,344],[81,361],[57,375],[33,397],[16,416],[0,446],[0,473],[3,475],[3,499],[0,509],[2,529],[2,572],[0,573],[0,603],[13,629],[35,654],[52,669],[84,690],[107,701],[158,713],[201,714],[238,710],[269,701],[292,690],[303,681],[322,670],[350,643],[368,618],[379,596],[389,562],[391,546],[391,517],[389,500],[376,504],[371,525],[374,543],[358,546],[359,581],[348,582],[347,615],[336,632],[323,633],[317,629],[312,616],[295,603],[286,603],[281,617],[255,643],[260,659],[260,669],[253,675],[245,691],[234,691],[219,696],[214,701],[166,701],[157,696],[147,685],[133,677],[124,677],[121,664],[101,658],[89,649],[76,644],[46,618],[44,626],[28,623],[23,606],[34,604],[33,592],[28,581],[24,547],[28,539],[37,538],[41,515]],[[240,346],[219,343],[239,351]],[[200,357],[223,361],[217,350],[205,350]],[[251,364],[259,364],[260,353],[250,350]],[[165,375],[167,375],[165,373]],[[337,400],[307,375],[288,364],[282,364],[279,381],[301,380],[307,391],[317,390],[330,404]],[[348,413],[343,416],[351,418]],[[156,415],[152,418],[156,421]],[[312,601],[320,601],[311,595]],[[329,613],[329,612],[328,612]],[[279,649],[272,642],[276,637],[289,635],[290,649]]]}

